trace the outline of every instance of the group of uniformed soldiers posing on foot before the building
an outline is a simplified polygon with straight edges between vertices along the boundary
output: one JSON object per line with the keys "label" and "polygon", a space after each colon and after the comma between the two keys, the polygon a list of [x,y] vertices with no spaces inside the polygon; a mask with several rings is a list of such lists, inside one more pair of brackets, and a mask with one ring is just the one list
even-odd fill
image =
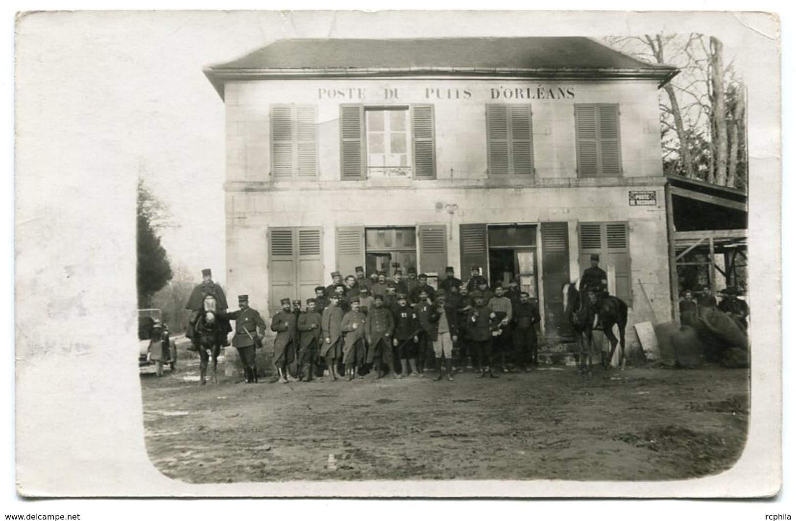
{"label": "group of uniformed soldiers posing on foot before the building", "polygon": [[[463,367],[497,378],[496,371],[509,371],[507,360],[531,371],[538,363],[537,302],[516,281],[490,288],[479,266],[472,267],[466,283],[452,266],[445,271],[435,289],[412,267],[407,278],[396,268],[388,280],[383,271],[366,278],[357,266],[356,274],[345,278],[334,271],[332,283],[316,287],[303,307],[302,301],[283,298],[271,318],[279,381],[350,381],[369,372],[377,379],[423,377],[431,367],[437,380],[443,375],[452,380]],[[195,292],[223,296],[207,277],[203,285]],[[246,381],[256,382],[254,353],[266,324],[246,295],[240,295],[239,305],[240,311],[220,309],[217,315],[236,321],[232,345],[240,352]]]}

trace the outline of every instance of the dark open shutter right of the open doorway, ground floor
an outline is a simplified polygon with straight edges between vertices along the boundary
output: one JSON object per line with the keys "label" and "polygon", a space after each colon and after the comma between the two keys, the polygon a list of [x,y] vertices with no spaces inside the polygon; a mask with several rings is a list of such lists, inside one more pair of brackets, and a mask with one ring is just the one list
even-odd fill
{"label": "dark open shutter right of the open doorway, ground floor", "polygon": [[569,227],[567,223],[542,223],[542,290],[545,334],[569,335],[564,317],[564,294],[569,276]]}

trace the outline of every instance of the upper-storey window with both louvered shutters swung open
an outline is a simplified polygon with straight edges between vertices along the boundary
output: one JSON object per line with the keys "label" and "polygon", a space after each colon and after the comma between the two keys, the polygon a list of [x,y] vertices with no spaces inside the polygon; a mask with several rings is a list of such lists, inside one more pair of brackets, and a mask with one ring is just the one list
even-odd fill
{"label": "upper-storey window with both louvered shutters swung open", "polygon": [[434,179],[434,106],[340,106],[343,181]]}

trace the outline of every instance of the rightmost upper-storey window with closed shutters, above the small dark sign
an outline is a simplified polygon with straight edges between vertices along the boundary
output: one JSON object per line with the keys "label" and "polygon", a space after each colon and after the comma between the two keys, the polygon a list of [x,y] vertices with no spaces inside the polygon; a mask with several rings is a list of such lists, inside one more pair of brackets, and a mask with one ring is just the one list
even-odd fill
{"label": "rightmost upper-storey window with closed shutters, above the small dark sign", "polygon": [[578,176],[621,176],[619,106],[615,103],[576,103],[575,125]]}

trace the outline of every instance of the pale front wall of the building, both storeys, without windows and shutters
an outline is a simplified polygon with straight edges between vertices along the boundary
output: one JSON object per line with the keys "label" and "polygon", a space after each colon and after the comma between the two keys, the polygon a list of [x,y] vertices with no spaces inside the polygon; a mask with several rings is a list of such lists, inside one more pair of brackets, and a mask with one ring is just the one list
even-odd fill
{"label": "pale front wall of the building, both storeys, without windows and shutters", "polygon": [[[520,95],[524,98],[517,99]],[[322,227],[328,284],[336,269],[338,226],[445,224],[448,264],[462,277],[468,266],[459,265],[459,224],[567,221],[569,267],[575,277],[587,267],[579,265],[577,224],[622,221],[630,231],[630,324],[671,319],[654,82],[257,81],[227,84],[225,103],[228,286],[230,294],[248,293],[266,315],[268,227]],[[318,106],[317,179],[271,180],[268,118],[275,103]],[[437,178],[340,181],[341,103],[433,103]],[[486,103],[531,103],[533,179],[487,176]],[[577,177],[575,103],[619,104],[622,177]],[[636,190],[654,191],[656,204],[631,206],[629,192]],[[455,205],[452,214],[446,209],[450,205]],[[541,262],[541,255],[537,258]],[[632,327],[628,337],[634,340]]]}

